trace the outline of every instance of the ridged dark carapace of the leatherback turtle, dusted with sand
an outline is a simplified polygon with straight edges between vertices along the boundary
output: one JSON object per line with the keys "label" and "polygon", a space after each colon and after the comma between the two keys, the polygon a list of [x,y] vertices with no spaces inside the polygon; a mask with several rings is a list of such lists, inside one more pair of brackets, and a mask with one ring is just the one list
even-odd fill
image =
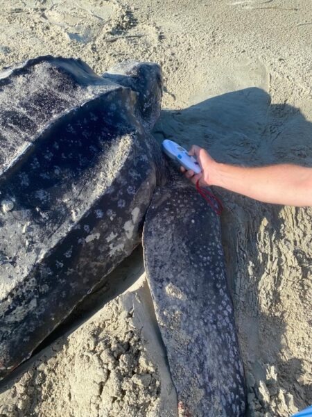
{"label": "ridged dark carapace of the leatherback turtle, dusted with sand", "polygon": [[1,129],[0,377],[139,243],[161,154],[137,93],[79,60],[37,58],[7,78],[0,109],[9,89],[21,117]]}

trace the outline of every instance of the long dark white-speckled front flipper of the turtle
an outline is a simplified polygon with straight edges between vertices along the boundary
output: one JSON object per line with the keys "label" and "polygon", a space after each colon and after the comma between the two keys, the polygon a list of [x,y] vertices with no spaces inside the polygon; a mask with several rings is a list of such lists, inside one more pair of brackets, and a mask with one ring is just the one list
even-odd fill
{"label": "long dark white-speckled front flipper of the turtle", "polygon": [[245,382],[220,222],[191,186],[157,188],[144,263],[182,416],[245,415]]}

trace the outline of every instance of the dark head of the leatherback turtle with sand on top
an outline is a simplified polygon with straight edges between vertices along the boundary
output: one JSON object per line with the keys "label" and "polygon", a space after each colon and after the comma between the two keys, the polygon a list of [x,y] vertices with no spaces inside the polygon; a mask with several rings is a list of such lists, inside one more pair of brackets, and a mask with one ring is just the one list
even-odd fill
{"label": "dark head of the leatherback turtle with sand on top", "polygon": [[155,63],[129,60],[103,74],[105,79],[137,93],[137,112],[141,123],[150,131],[160,114],[162,69]]}

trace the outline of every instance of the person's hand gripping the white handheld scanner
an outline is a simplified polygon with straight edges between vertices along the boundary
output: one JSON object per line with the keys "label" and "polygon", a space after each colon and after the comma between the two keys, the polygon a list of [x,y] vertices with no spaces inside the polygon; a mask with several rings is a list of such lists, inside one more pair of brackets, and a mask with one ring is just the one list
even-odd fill
{"label": "person's hand gripping the white handheld scanner", "polygon": [[184,173],[184,176],[187,179],[190,179],[193,184],[199,180],[200,186],[211,186],[212,185],[212,172],[214,170],[215,165],[217,164],[213,158],[208,154],[208,152],[197,146],[192,145],[191,149],[189,150],[189,155],[196,156],[197,161],[200,165],[200,169],[202,172],[200,174],[195,174],[193,170],[186,170],[184,167],[180,167],[181,172]]}

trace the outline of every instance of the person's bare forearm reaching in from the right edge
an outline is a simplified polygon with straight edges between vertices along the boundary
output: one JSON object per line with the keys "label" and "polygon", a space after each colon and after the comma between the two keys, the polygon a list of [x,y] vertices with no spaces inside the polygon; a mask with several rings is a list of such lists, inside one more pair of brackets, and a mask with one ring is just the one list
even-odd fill
{"label": "person's bare forearm reaching in from the right edge", "polygon": [[216,163],[211,185],[273,204],[312,206],[312,168],[298,165],[238,167]]}

